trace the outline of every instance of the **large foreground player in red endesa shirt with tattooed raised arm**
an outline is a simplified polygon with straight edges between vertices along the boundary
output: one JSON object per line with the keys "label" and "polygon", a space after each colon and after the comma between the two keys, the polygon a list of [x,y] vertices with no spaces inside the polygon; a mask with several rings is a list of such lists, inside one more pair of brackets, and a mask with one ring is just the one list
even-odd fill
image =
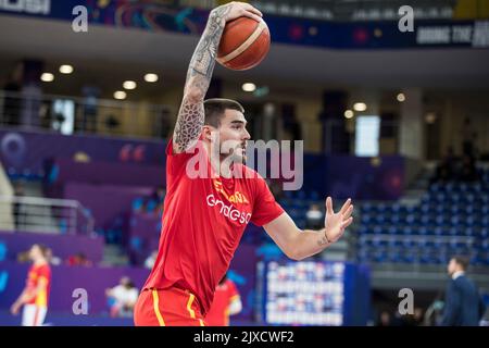
{"label": "large foreground player in red endesa shirt with tattooed raised arm", "polygon": [[[136,325],[203,326],[216,285],[250,221],[264,226],[293,260],[323,251],[352,222],[350,200],[334,213],[328,197],[325,228],[300,231],[261,176],[242,164],[221,165],[229,156],[243,160],[250,139],[244,110],[238,102],[204,101],[223,29],[239,16],[260,21],[262,14],[242,2],[214,9],[191,58],[175,130],[166,148],[167,192],[159,253],[136,303]],[[216,135],[217,145],[211,141]],[[221,152],[217,159],[210,156],[215,146]],[[210,164],[204,169],[206,177],[188,175],[187,166],[196,153]],[[244,177],[233,175],[236,170],[244,172]]]}

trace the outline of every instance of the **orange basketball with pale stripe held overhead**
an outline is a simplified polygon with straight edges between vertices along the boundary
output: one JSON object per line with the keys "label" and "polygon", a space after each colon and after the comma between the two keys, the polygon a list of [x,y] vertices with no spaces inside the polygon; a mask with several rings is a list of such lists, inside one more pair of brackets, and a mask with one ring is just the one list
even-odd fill
{"label": "orange basketball with pale stripe held overhead", "polygon": [[269,49],[269,30],[260,23],[239,17],[226,23],[217,52],[217,62],[231,70],[248,70],[260,64]]}

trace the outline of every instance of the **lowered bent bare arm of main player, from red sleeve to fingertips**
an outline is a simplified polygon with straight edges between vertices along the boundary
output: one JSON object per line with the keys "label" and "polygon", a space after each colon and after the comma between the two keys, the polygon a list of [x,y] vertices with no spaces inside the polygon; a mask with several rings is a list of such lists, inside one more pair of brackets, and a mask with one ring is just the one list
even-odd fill
{"label": "lowered bent bare arm of main player, from red sleeve to fingertips", "polygon": [[287,257],[302,260],[323,251],[341,238],[344,228],[353,221],[352,212],[353,206],[348,199],[341,210],[335,213],[331,198],[328,197],[325,227],[321,231],[299,229],[287,213],[283,213],[263,227]]}

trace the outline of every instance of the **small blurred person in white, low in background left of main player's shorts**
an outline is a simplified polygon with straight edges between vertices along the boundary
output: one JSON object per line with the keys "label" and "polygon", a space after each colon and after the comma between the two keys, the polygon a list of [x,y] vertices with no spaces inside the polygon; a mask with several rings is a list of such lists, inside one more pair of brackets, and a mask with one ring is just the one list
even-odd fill
{"label": "small blurred person in white, low in background left of main player's shorts", "polygon": [[109,299],[111,316],[133,316],[139,290],[128,276],[123,276],[118,285],[106,289],[105,295]]}

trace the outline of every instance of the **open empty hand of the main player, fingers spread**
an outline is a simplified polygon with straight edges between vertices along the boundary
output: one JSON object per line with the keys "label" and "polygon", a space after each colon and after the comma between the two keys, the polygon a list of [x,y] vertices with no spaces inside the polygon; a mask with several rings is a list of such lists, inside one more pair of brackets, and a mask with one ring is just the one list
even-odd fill
{"label": "open empty hand of the main player, fingers spread", "polygon": [[335,213],[333,211],[333,200],[331,197],[326,198],[326,216],[324,220],[326,238],[330,243],[337,241],[344,233],[347,228],[353,221],[351,216],[353,212],[353,204],[351,199],[347,199],[340,211]]}

